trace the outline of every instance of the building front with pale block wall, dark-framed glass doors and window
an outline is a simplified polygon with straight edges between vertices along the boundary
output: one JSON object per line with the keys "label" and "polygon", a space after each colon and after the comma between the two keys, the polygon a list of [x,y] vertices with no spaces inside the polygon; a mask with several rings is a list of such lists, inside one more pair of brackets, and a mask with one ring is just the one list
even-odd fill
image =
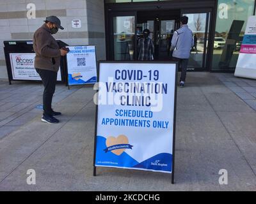
{"label": "building front with pale block wall, dark-framed glass doors and window", "polygon": [[[31,4],[35,18],[29,16]],[[48,15],[60,17],[65,27],[56,39],[96,45],[97,59],[109,61],[136,61],[145,28],[154,41],[154,59],[170,60],[173,31],[186,15],[195,38],[189,69],[234,71],[247,19],[255,15],[255,0],[1,0],[0,78],[7,78],[3,41],[32,40]],[[72,20],[81,20],[81,27],[72,27]]]}

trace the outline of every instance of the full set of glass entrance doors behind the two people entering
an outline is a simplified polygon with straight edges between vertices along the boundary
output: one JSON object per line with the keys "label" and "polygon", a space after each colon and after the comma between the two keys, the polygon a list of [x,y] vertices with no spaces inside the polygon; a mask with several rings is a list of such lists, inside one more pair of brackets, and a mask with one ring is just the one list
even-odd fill
{"label": "full set of glass entrance doors behind the two people entering", "polygon": [[[179,18],[186,15],[188,26],[195,36],[195,47],[191,49],[188,68],[204,70],[209,65],[209,18],[210,10],[173,10],[172,12],[109,12],[107,59],[113,61],[137,61],[137,43],[143,29],[150,30],[153,40],[155,61],[170,61],[170,41],[173,31],[179,29]],[[210,44],[209,44],[210,45]]]}

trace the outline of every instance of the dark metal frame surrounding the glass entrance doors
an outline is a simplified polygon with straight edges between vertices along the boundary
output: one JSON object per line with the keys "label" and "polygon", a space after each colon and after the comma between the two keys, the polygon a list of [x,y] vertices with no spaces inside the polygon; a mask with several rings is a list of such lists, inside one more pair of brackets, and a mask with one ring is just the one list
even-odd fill
{"label": "dark metal frame surrounding the glass entrance doors", "polygon": [[[113,40],[111,40],[111,27],[113,31],[113,21],[109,20],[111,17],[120,15],[135,15],[135,20],[137,22],[137,11],[166,11],[166,10],[182,10],[182,11],[200,11],[202,13],[211,12],[209,16],[209,36],[214,36],[215,24],[216,24],[216,14],[217,14],[218,1],[216,0],[173,0],[173,1],[148,1],[148,2],[138,2],[138,3],[104,3],[105,8],[105,30],[106,30],[106,59],[111,60],[111,55],[113,55]],[[208,21],[209,22],[209,21]],[[111,25],[112,24],[112,25]],[[109,38],[110,36],[110,38]],[[136,41],[134,42],[134,55],[136,55]],[[212,67],[212,54],[213,54],[213,40],[208,40],[208,48],[205,60],[204,69],[196,69],[196,71],[210,71]]]}

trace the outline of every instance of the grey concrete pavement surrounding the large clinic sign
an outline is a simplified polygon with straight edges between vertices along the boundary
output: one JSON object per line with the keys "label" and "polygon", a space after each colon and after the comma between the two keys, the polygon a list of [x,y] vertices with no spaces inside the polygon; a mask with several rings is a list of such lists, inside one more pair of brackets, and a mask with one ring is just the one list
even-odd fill
{"label": "grey concrete pavement surrounding the large clinic sign", "polygon": [[[35,108],[42,85],[1,82],[0,190],[256,191],[256,112],[221,76],[232,78],[188,73],[178,88],[174,185],[170,174],[148,171],[97,168],[93,177],[92,87],[58,85],[54,106],[63,116],[50,125]],[[36,185],[26,183],[28,169],[36,171]],[[228,185],[218,182],[221,169]]]}

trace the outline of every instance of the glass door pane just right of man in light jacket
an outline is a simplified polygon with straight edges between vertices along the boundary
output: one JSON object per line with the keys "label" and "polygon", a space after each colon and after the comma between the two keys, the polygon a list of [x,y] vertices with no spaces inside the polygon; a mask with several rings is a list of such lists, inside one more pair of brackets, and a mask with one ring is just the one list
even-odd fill
{"label": "glass door pane just right of man in light jacket", "polygon": [[194,47],[191,49],[188,68],[206,68],[209,13],[182,13],[188,17],[188,27],[193,32]]}

